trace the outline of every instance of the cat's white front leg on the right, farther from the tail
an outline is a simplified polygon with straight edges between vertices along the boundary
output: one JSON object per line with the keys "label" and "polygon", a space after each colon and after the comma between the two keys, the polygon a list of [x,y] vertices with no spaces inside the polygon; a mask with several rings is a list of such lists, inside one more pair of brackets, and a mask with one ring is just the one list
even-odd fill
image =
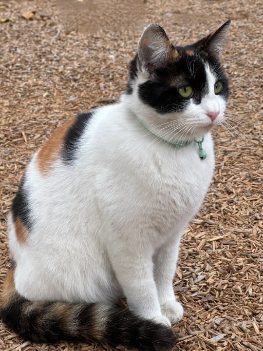
{"label": "cat's white front leg on the right, farther from the tail", "polygon": [[184,309],[176,300],[173,291],[173,276],[176,269],[181,235],[174,235],[154,255],[155,282],[161,311],[171,323],[182,319]]}

